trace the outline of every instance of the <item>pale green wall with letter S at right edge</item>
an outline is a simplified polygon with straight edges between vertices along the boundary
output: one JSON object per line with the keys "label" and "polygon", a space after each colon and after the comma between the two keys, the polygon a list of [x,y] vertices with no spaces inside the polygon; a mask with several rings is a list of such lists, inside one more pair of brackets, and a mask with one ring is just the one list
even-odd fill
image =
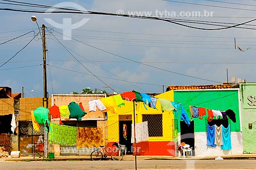
{"label": "pale green wall with letter S at right edge", "polygon": [[[256,152],[256,83],[240,83],[240,96],[244,153]],[[252,129],[249,129],[249,123]]]}

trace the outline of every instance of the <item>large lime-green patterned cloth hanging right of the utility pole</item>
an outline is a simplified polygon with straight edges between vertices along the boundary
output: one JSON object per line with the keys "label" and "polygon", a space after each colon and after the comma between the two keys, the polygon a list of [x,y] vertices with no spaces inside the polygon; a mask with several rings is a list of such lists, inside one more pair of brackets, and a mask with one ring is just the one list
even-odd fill
{"label": "large lime-green patterned cloth hanging right of the utility pole", "polygon": [[49,143],[65,146],[74,146],[76,144],[76,127],[50,123],[50,128]]}

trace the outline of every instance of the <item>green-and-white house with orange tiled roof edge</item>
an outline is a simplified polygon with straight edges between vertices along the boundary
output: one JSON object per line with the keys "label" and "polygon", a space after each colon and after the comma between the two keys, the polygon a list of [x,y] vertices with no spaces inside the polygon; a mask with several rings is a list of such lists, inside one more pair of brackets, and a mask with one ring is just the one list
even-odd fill
{"label": "green-and-white house with orange tiled roof edge", "polygon": [[[178,125],[179,143],[185,142],[193,147],[193,155],[196,156],[221,156],[243,153],[242,141],[242,122],[240,106],[239,88],[231,88],[229,85],[209,85],[209,86],[169,86],[167,90],[174,90],[174,102],[182,104],[189,117],[188,126],[181,120],[181,110],[179,110],[175,120]],[[246,96],[247,98],[247,96]],[[209,122],[209,114],[203,118],[190,116],[189,106],[201,107],[205,110],[227,111],[232,110],[236,120],[229,117],[227,119],[214,119]],[[209,147],[207,143],[207,124],[208,126],[223,125],[230,127],[231,149],[224,150],[221,146]],[[208,133],[209,134],[209,133]],[[227,133],[228,134],[228,133]],[[223,142],[227,142],[224,141]]]}

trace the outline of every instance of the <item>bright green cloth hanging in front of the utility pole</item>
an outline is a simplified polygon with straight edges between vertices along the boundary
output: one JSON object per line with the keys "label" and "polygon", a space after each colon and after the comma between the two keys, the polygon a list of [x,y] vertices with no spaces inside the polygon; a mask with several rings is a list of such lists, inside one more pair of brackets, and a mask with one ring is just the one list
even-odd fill
{"label": "bright green cloth hanging in front of the utility pole", "polygon": [[38,124],[44,124],[46,132],[49,132],[49,109],[45,107],[38,107],[34,110],[34,116]]}

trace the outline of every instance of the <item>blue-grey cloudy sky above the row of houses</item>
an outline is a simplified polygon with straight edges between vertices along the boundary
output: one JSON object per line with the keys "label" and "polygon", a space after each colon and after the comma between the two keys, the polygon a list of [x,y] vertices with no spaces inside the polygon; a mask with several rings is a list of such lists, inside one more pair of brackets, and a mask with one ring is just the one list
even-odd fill
{"label": "blue-grey cloudy sky above the row of houses", "polygon": [[167,86],[222,84],[231,77],[255,82],[256,21],[239,26],[242,28],[207,30],[255,19],[255,1],[22,2],[176,20],[45,13],[53,9],[8,5],[11,2],[0,0],[0,87],[20,93],[24,87],[25,97],[44,94],[42,41],[32,15],[40,28],[46,26],[49,96],[80,93],[87,87],[108,93],[161,93]]}

